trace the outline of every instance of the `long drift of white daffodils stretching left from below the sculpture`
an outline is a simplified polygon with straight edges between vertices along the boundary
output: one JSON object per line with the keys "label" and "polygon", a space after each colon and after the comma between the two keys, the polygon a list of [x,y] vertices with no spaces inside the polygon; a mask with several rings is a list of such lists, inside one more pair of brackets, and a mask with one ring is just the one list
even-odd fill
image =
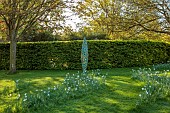
{"label": "long drift of white daffodils stretching left from below the sculpture", "polygon": [[[69,99],[79,98],[83,95],[93,93],[102,88],[105,84],[106,75],[100,73],[100,70],[92,71],[91,73],[76,74],[67,73],[64,81],[60,85],[51,86],[46,89],[36,89],[24,94],[20,94],[20,81],[16,80],[16,91],[18,91],[15,105],[16,112],[27,112],[30,109],[34,111],[38,108],[48,108],[51,104],[60,104]],[[18,107],[18,108],[17,108]],[[8,109],[10,106],[8,107]],[[20,109],[19,109],[20,108]]]}

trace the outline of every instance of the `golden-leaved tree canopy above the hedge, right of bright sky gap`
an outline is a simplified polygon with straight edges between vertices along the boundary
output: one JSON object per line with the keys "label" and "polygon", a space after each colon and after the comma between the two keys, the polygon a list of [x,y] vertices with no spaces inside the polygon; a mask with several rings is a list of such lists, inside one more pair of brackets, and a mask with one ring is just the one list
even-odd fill
{"label": "golden-leaved tree canopy above the hedge, right of bright sky gap", "polygon": [[94,31],[136,35],[170,34],[170,0],[85,0],[72,10]]}

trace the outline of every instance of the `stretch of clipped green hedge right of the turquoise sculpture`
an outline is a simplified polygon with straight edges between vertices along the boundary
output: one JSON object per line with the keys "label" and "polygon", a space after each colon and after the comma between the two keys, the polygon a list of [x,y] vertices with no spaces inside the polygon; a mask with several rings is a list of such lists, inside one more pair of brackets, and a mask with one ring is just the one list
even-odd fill
{"label": "stretch of clipped green hedge right of the turquoise sculpture", "polygon": [[168,44],[147,41],[89,42],[89,64],[93,68],[149,66],[169,58]]}

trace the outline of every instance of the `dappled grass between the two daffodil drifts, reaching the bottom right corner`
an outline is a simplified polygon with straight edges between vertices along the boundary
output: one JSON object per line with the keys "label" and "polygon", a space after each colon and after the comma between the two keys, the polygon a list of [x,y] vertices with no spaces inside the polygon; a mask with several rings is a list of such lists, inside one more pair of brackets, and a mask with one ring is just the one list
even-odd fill
{"label": "dappled grass between the two daffodil drifts, reaching the bottom right corner", "polygon": [[[110,79],[112,77],[115,79]],[[136,108],[143,83],[135,83],[128,76],[118,77],[119,81],[114,76],[110,78],[107,80],[110,84],[104,89],[57,105],[56,108],[51,108],[49,113],[168,113],[170,111],[168,99]]]}

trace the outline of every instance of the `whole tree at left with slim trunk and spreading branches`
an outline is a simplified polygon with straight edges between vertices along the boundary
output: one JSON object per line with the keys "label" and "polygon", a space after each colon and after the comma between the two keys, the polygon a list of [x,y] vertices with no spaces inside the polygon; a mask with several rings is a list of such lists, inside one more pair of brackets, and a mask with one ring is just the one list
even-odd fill
{"label": "whole tree at left with slim trunk and spreading branches", "polygon": [[9,73],[16,72],[16,43],[19,37],[37,21],[47,22],[53,16],[60,15],[57,9],[61,7],[64,7],[61,0],[0,0],[0,18],[5,22],[10,41]]}

